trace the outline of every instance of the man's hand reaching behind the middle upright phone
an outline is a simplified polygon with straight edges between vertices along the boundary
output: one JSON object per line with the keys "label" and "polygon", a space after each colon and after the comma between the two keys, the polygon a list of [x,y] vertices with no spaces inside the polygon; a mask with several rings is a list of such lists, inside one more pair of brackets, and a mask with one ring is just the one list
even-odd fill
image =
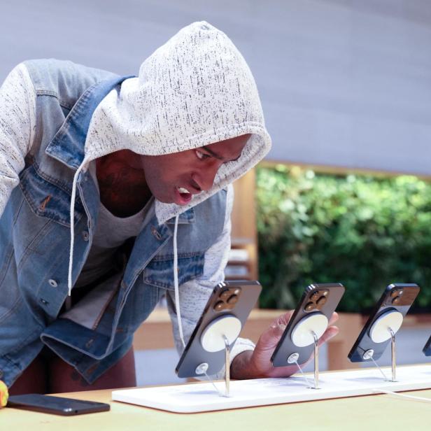
{"label": "man's hand reaching behind the middle upright phone", "polygon": [[[293,311],[279,316],[271,326],[260,336],[254,351],[239,353],[230,365],[232,379],[260,379],[264,377],[288,377],[298,371],[297,365],[288,367],[273,367],[271,355],[281,339]],[[338,334],[338,328],[331,326],[338,320],[338,314],[333,313],[327,330],[319,339],[319,346]],[[313,355],[309,358],[309,362]]]}

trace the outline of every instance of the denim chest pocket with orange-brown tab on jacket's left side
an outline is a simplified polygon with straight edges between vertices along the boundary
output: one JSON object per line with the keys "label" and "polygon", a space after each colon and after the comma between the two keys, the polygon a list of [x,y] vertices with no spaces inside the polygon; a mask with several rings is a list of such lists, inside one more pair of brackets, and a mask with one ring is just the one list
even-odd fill
{"label": "denim chest pocket with orange-brown tab on jacket's left side", "polygon": [[[66,227],[70,226],[71,193],[64,185],[48,181],[38,172],[36,164],[32,164],[21,175],[20,188],[31,211],[39,217],[49,218]],[[83,205],[76,197],[74,222],[83,216]]]}

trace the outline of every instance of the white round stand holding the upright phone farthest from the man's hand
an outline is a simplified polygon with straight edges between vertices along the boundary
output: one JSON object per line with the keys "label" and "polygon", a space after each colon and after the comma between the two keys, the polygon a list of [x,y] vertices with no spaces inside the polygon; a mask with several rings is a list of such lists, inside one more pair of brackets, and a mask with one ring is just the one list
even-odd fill
{"label": "white round stand holding the upright phone farthest from the man's hand", "polygon": [[[402,325],[402,313],[396,310],[390,310],[381,314],[369,330],[369,337],[374,343],[383,343],[390,339],[390,354],[392,364],[392,379],[390,381],[397,381],[397,360],[395,357],[395,334],[398,332]],[[362,358],[365,360],[373,359],[374,350],[370,348],[367,350]],[[373,360],[374,362],[374,360]],[[374,362],[375,363],[375,362]]]}

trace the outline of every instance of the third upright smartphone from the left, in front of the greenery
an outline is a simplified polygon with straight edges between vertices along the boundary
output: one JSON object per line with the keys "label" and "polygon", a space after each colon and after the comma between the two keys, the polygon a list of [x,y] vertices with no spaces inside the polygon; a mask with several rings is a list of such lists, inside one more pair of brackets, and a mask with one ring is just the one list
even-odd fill
{"label": "third upright smartphone from the left, in front of the greenery", "polygon": [[355,341],[355,344],[353,344],[350,353],[348,353],[348,359],[351,360],[351,362],[365,362],[367,360],[372,360],[369,355],[365,355],[365,352],[371,350],[373,351],[372,358],[374,360],[378,360],[381,357],[386,346],[390,343],[390,339],[382,341],[381,343],[372,341],[369,332],[373,323],[384,313],[392,310],[400,311],[403,317],[406,316],[411,304],[413,304],[414,300],[418,296],[419,290],[419,286],[413,283],[393,283],[386,287],[383,295],[381,295],[369,316],[367,323],[365,323],[365,326],[362,328],[358,339]]}

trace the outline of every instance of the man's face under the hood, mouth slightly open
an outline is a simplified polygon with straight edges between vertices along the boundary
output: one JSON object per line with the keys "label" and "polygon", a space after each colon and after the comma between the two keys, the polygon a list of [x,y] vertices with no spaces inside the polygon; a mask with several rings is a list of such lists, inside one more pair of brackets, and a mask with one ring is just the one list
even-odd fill
{"label": "man's face under the hood, mouth slightly open", "polygon": [[238,159],[249,137],[245,134],[181,153],[141,156],[148,188],[160,202],[188,204],[192,195],[211,189],[220,166]]}

